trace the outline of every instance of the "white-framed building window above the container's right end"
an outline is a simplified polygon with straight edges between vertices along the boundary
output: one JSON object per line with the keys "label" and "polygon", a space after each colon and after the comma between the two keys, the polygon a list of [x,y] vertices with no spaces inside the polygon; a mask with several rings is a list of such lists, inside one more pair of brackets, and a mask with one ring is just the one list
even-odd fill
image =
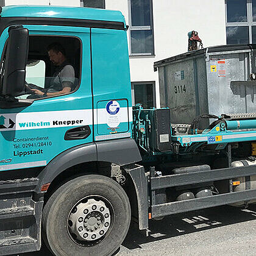
{"label": "white-framed building window above the container's right end", "polygon": [[256,43],[256,0],[226,0],[227,44]]}

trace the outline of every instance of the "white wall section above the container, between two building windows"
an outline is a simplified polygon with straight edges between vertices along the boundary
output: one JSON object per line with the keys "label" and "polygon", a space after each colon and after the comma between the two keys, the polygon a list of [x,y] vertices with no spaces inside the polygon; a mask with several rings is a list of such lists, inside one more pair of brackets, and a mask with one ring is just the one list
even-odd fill
{"label": "white wall section above the container, between two building windows", "polygon": [[196,30],[204,47],[226,44],[224,0],[153,1],[155,60],[187,52],[188,32]]}

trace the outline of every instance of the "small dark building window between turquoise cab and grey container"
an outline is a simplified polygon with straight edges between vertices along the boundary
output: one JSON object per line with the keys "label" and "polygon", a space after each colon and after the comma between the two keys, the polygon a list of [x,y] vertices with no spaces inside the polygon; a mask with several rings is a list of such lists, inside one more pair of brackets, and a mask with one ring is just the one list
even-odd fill
{"label": "small dark building window between turquoise cab and grey container", "polygon": [[155,82],[133,82],[132,104],[142,104],[143,108],[155,107]]}

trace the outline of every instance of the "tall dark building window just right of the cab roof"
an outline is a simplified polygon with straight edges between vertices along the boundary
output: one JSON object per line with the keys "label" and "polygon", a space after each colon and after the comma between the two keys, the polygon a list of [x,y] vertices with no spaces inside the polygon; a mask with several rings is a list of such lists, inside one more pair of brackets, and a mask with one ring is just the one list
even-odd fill
{"label": "tall dark building window just right of the cab roof", "polygon": [[128,0],[130,54],[154,55],[152,0]]}

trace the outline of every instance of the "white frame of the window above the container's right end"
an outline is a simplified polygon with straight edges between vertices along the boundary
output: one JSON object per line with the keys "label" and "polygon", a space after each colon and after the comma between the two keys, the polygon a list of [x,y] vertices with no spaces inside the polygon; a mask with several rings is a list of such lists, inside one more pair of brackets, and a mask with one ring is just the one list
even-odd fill
{"label": "white frame of the window above the container's right end", "polygon": [[[227,22],[227,1],[229,1],[229,0],[225,0],[226,29],[227,29],[227,27],[248,27],[249,44],[252,44],[253,43],[252,42],[252,27],[256,26],[256,21],[253,21],[252,0],[246,0],[246,7],[247,7],[247,21],[246,22],[245,21],[244,22]],[[226,43],[227,43],[227,35],[226,35]]]}

